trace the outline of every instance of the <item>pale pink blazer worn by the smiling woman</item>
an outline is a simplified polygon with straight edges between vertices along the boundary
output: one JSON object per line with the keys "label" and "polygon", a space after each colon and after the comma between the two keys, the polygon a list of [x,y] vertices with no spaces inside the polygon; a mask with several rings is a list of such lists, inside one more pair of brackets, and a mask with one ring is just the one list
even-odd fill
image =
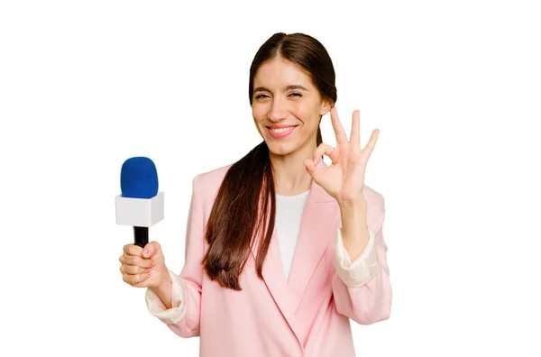
{"label": "pale pink blazer worn by the smiling woman", "polygon": [[[181,287],[176,292],[173,288],[172,300],[182,303],[170,310],[181,310],[182,317],[162,321],[181,337],[200,336],[200,356],[204,357],[355,356],[350,320],[369,325],[390,316],[383,197],[365,185],[368,226],[378,261],[371,264],[373,273],[361,285],[346,285],[348,280],[337,273],[334,238],[340,232],[340,208],[335,198],[312,181],[289,279],[275,233],[263,264],[264,280],[256,275],[254,247],[240,277],[243,290],[234,291],[208,279],[200,263],[208,248],[203,235],[206,222],[230,166],[193,180],[185,265],[179,276],[171,272],[173,285]],[[156,299],[150,291],[147,305]],[[164,309],[160,301],[152,304]]]}

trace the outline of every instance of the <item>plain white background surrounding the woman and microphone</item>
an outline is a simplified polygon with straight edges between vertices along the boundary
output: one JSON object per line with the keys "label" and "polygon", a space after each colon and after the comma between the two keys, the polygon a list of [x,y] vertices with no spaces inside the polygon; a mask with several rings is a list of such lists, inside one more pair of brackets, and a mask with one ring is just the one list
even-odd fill
{"label": "plain white background surrounding the woman and microphone", "polygon": [[1,3],[2,355],[197,356],[122,280],[120,169],[156,163],[179,273],[193,177],[261,142],[248,74],[274,32],[326,46],[347,133],[354,109],[362,145],[381,130],[393,306],[352,322],[357,353],[541,355],[536,1],[181,3]]}

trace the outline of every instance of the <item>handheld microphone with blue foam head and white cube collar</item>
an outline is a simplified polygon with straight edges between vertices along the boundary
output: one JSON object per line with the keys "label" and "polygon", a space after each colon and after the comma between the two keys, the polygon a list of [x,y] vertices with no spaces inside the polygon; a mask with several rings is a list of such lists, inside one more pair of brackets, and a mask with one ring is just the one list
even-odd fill
{"label": "handheld microphone with blue foam head and white cube collar", "polygon": [[116,224],[132,225],[136,245],[149,243],[149,227],[163,219],[163,192],[158,192],[154,162],[142,156],[124,161],[120,171],[122,194],[115,197]]}

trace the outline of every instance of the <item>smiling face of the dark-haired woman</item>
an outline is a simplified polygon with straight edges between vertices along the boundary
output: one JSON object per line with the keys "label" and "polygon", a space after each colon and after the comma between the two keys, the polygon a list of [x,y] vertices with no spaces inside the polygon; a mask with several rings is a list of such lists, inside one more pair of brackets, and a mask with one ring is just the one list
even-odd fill
{"label": "smiling face of the dark-haired woman", "polygon": [[319,119],[330,105],[321,100],[302,70],[275,57],[257,70],[253,89],[253,120],[272,153],[287,155],[300,148],[310,151],[316,147]]}

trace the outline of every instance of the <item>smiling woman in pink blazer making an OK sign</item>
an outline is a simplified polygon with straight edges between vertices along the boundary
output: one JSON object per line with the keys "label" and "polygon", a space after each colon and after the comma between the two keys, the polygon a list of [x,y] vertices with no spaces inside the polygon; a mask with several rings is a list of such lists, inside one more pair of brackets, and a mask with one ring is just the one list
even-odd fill
{"label": "smiling woman in pink blazer making an OK sign", "polygon": [[[261,46],[249,98],[263,142],[194,178],[180,275],[151,242],[124,246],[123,279],[175,334],[200,336],[201,356],[354,356],[350,319],[390,316],[384,201],[363,184],[379,131],[361,150],[355,111],[348,140],[333,63],[305,34]],[[329,111],[336,148],[319,129]]]}

